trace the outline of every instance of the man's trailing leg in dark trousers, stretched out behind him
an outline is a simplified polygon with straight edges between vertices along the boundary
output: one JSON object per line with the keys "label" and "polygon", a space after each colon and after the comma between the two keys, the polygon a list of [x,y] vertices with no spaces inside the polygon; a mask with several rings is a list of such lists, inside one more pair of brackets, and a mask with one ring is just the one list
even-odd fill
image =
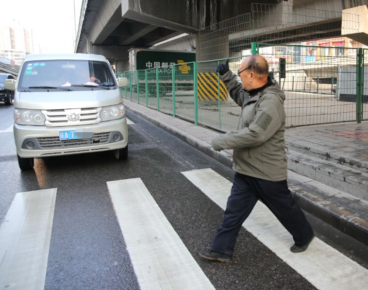
{"label": "man's trailing leg in dark trousers, stretched out behind him", "polygon": [[293,236],[295,245],[307,245],[314,237],[311,225],[292,197],[287,181],[267,181],[251,178],[251,188],[267,205],[285,229]]}

